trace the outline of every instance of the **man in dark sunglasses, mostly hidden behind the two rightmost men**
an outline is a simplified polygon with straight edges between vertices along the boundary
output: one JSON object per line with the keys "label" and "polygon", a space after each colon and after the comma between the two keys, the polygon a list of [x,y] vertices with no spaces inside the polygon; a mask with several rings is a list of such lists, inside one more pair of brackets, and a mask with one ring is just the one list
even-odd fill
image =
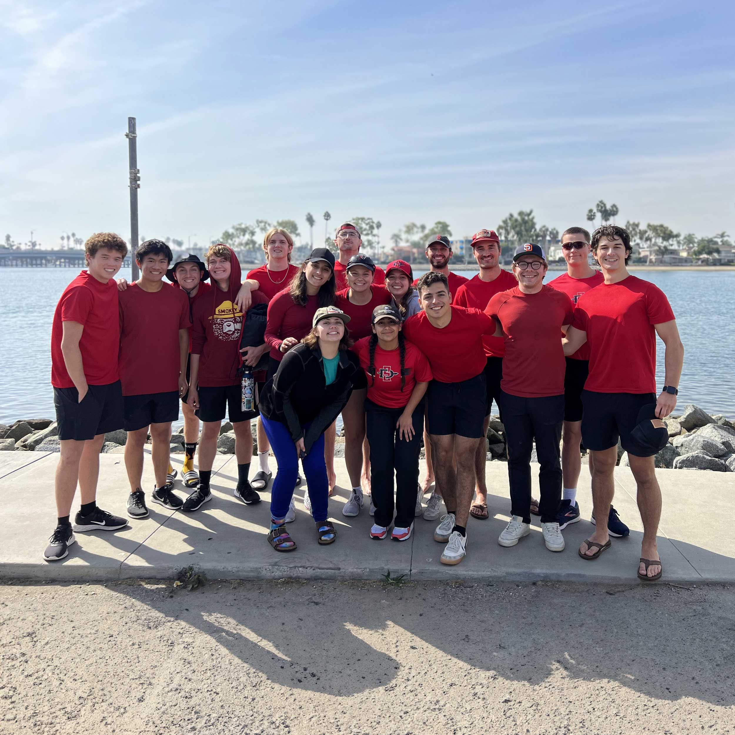
{"label": "man in dark sunglasses, mostly hidden behind the two rightmost men", "polygon": [[[587,293],[604,279],[599,270],[589,265],[589,232],[583,227],[570,227],[562,233],[562,252],[567,262],[567,272],[549,282],[552,288],[562,291],[574,304],[583,293]],[[581,471],[580,444],[582,440],[582,390],[589,374],[589,345],[585,343],[573,355],[567,357],[564,374],[564,430],[562,437],[562,505],[559,506],[559,528],[566,528],[579,520],[577,503],[577,481]],[[589,455],[589,473],[592,474],[594,459]],[[531,512],[534,501],[531,501]],[[592,512],[592,523],[595,513]],[[607,528],[611,536],[620,538],[630,533],[628,526],[620,520],[617,511],[610,506]]]}

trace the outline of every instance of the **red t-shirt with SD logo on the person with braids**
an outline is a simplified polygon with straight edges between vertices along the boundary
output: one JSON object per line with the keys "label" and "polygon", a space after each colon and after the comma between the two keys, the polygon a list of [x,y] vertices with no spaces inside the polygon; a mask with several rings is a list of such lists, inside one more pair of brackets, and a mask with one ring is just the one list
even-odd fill
{"label": "red t-shirt with SD logo on the person with braids", "polygon": [[408,340],[404,340],[406,355],[404,357],[404,368],[406,384],[401,390],[401,350],[384,350],[380,345],[375,348],[375,379],[368,375],[370,367],[370,337],[363,337],[355,343],[352,348],[360,359],[360,365],[368,375],[368,398],[374,404],[385,406],[389,409],[402,409],[411,398],[411,394],[417,383],[428,383],[431,376],[431,368],[426,355]]}

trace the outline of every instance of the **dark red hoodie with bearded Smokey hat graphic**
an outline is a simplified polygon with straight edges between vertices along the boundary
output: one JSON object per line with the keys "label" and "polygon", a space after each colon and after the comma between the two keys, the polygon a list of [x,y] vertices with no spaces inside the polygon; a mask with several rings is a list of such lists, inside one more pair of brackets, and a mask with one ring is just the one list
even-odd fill
{"label": "dark red hoodie with bearded Smokey hat graphic", "polygon": [[[212,279],[212,287],[192,307],[191,352],[199,358],[198,385],[213,387],[237,385],[240,376],[240,333],[245,315],[234,304],[240,290],[240,262],[232,248],[229,289],[223,291]],[[252,305],[267,304],[268,297],[254,291]]]}

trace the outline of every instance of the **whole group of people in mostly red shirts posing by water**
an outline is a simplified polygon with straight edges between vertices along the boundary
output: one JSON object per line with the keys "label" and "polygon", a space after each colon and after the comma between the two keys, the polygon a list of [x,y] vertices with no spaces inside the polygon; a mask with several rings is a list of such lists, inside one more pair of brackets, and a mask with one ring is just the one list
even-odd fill
{"label": "whole group of people in mostly red shirts posing by water", "polygon": [[[562,531],[580,519],[582,445],[589,452],[595,531],[578,555],[598,559],[610,537],[628,535],[612,507],[620,440],[644,527],[637,576],[660,578],[654,456],[667,442],[662,419],[676,404],[684,348],[664,293],[627,270],[628,232],[605,225],[590,237],[570,227],[562,234],[567,272],[548,284],[542,247],[520,245],[512,270],[503,270],[501,243],[490,229],[473,236],[479,273],[472,279],[450,270],[451,243],[442,234],[426,244],[430,270],[417,280],[404,260],[383,270],[360,253],[352,223],[340,226],[334,244],[337,258],[329,248],[315,248],[296,266],[290,234],[271,229],[263,243],[265,265],[242,279],[227,245],[210,246],[204,261],[195,255],[174,260],[168,245],[147,240],[135,253],[140,279],[128,284],[115,279],[127,254],[121,237],[99,233],[87,240],[87,270],[62,294],[51,334],[61,455],[57,527],[44,558],[67,556],[74,531],[126,526],[125,518],[96,505],[98,454],[107,432],[127,431],[129,517],[148,515],[142,487],[148,434],[155,476],[150,502],[192,513],[212,499],[212,465],[226,417],[235,437],[235,498],[259,503],[258,490],[272,483],[271,547],[281,553],[297,548],[287,524],[295,520],[294,493],[303,482],[299,462],[317,542],[334,543],[328,501],[337,481],[341,414],[351,483],[343,514],[362,511],[365,487],[374,516],[370,537],[405,541],[416,517],[438,519],[441,562],[459,564],[467,554],[470,515],[489,517],[486,437],[495,401],[512,503],[498,543],[517,545],[530,533],[534,514],[546,548],[564,550]],[[599,270],[590,266],[590,254]],[[656,334],[666,346],[660,390]],[[169,456],[179,404],[182,480],[191,491],[185,499],[173,492]],[[251,477],[255,417],[257,471]],[[531,494],[534,446],[538,501]],[[77,484],[81,507],[72,524]],[[423,493],[432,487],[424,508]]]}

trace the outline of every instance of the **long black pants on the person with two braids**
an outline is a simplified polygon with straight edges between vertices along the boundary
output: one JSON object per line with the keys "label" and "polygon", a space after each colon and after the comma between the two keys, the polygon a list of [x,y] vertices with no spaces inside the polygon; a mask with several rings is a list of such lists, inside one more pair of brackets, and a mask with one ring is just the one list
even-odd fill
{"label": "long black pants on the person with two braids", "polygon": [[[395,525],[408,528],[414,520],[418,490],[418,455],[423,435],[423,402],[412,415],[414,436],[407,442],[398,437],[395,424],[404,409],[389,409],[365,400],[367,436],[370,442],[370,487],[376,507],[375,522],[390,526],[396,509]],[[398,486],[393,502],[393,470]],[[397,508],[396,508],[397,506]]]}

